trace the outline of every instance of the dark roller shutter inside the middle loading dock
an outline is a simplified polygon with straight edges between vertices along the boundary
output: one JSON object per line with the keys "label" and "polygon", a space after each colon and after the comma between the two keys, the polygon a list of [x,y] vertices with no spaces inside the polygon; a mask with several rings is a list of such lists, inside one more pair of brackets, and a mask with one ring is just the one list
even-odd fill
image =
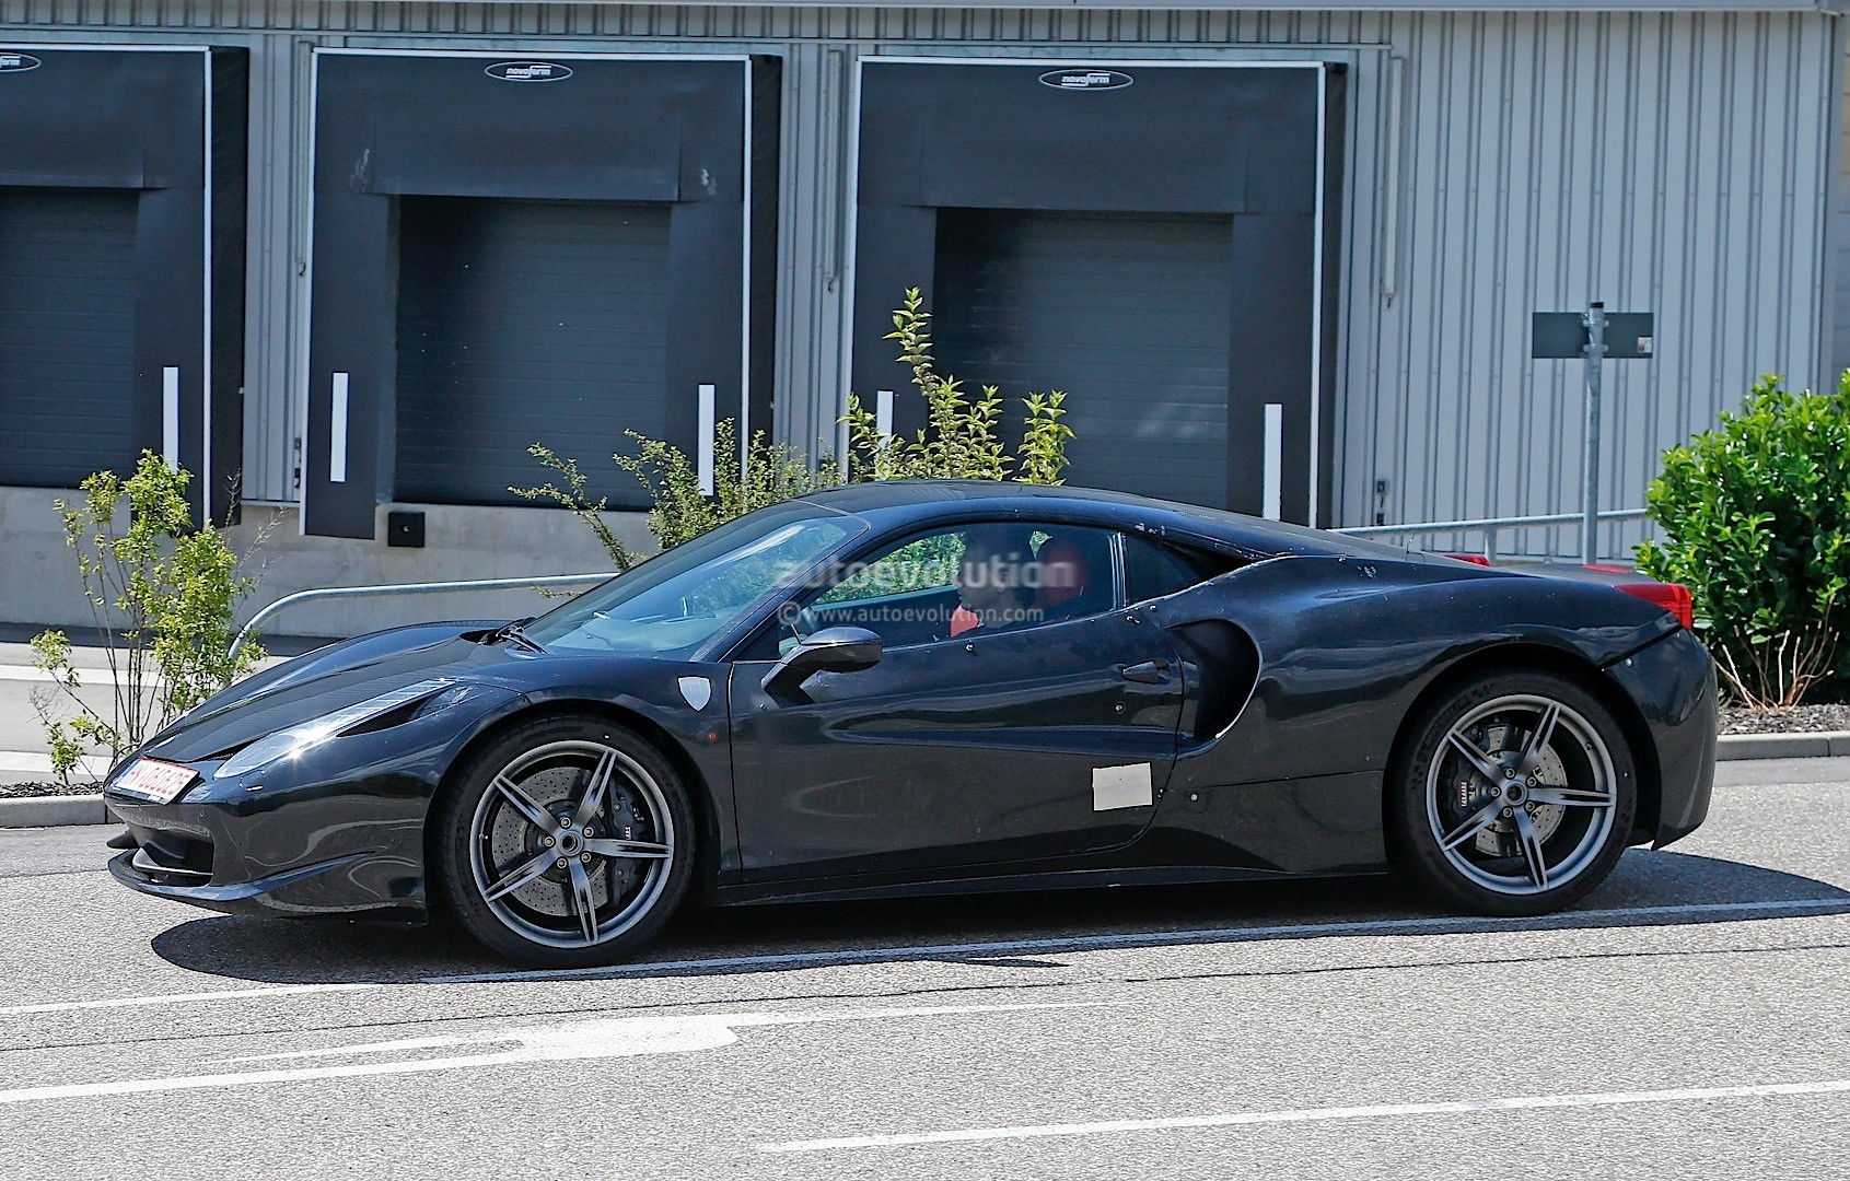
{"label": "dark roller shutter inside the middle loading dock", "polygon": [[666,432],[668,274],[666,205],[401,198],[394,499],[520,505],[548,444],[648,505],[609,455]]}

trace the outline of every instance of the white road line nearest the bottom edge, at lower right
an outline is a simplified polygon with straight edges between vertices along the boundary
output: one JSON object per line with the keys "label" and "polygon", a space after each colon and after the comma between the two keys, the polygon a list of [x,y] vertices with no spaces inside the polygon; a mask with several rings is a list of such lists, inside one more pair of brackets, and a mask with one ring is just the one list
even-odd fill
{"label": "white road line nearest the bottom edge, at lower right", "polygon": [[1561,1107],[1622,1107],[1635,1103],[1698,1103],[1708,1100],[1756,1100],[1850,1092],[1850,1079],[1817,1083],[1763,1083],[1750,1087],[1680,1087],[1676,1090],[1610,1090],[1595,1094],[1528,1094],[1443,1103],[1380,1103],[1373,1107],[1301,1107],[1295,1111],[1236,1111],[1228,1114],[1175,1116],[1164,1120],[1101,1120],[1095,1124],[1030,1124],[1021,1127],[956,1127],[881,1137],[832,1137],[760,1144],[758,1151],[832,1151],[847,1148],[897,1148],[908,1144],[956,1144],[969,1140],[1030,1140],[1038,1137],[1093,1137],[1121,1131],[1178,1127],[1243,1127],[1252,1124],[1312,1124],[1321,1120],[1389,1120],[1428,1114],[1480,1114],[1486,1111],[1537,1111]]}

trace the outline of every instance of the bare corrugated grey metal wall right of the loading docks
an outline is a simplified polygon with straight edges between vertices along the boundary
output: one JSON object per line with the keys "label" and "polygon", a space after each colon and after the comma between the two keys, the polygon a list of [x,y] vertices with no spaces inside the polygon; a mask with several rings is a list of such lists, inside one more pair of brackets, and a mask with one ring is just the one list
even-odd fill
{"label": "bare corrugated grey metal wall right of the loading docks", "polygon": [[[1582,366],[1528,359],[1536,309],[1598,298],[1658,312],[1656,360],[1606,366],[1611,508],[1643,505],[1658,453],[1758,373],[1817,381],[1828,20],[1395,30],[1410,76],[1406,218],[1388,272],[1400,296],[1376,303],[1378,377],[1350,364],[1343,410],[1343,457],[1389,481],[1389,519],[1578,508]],[[1343,492],[1356,519],[1360,490]]]}

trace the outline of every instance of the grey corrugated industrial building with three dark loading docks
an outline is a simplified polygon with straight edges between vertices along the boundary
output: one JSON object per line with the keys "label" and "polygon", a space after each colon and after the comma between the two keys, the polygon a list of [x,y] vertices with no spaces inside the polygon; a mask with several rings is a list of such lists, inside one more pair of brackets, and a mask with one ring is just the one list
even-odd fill
{"label": "grey corrugated industrial building with three dark loading docks", "polygon": [[1069,394],[1071,482],[1314,525],[1578,508],[1530,314],[1650,310],[1634,508],[1850,360],[1843,63],[1780,0],[0,0],[0,619],[87,619],[50,501],[142,447],[287,517],[266,599],[592,569],[529,444],[618,508],[703,405],[838,453],[906,286],[944,368]]}

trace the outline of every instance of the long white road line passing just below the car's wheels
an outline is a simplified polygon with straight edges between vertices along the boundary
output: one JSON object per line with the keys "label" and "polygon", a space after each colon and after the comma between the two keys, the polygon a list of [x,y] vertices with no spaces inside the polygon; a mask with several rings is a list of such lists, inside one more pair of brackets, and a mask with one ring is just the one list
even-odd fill
{"label": "long white road line passing just below the car's wheels", "polygon": [[[892,948],[838,948],[829,952],[788,952],[775,956],[722,956],[712,959],[653,959],[644,963],[623,963],[609,968],[542,968],[514,972],[475,972],[457,976],[424,976],[413,983],[420,985],[466,985],[498,983],[520,980],[633,980],[638,976],[657,976],[660,972],[729,972],[729,970],[779,970],[779,968],[827,968],[834,965],[888,963],[899,959],[971,959],[990,956],[1021,956],[1036,952],[1110,952],[1119,948],[1153,946],[1190,946],[1202,943],[1256,943],[1264,939],[1289,939],[1310,935],[1371,935],[1388,931],[1436,933],[1436,935],[1473,935],[1495,931],[1556,930],[1572,928],[1589,920],[1628,920],[1628,919],[1674,919],[1682,915],[1748,917],[1782,915],[1809,911],[1815,915],[1839,915],[1850,911],[1850,898],[1780,898],[1769,902],[1698,902],[1682,906],[1624,906],[1604,911],[1565,911],[1545,919],[1369,919],[1360,922],[1293,922],[1284,926],[1223,926],[1223,928],[1186,928],[1178,931],[1125,931],[1117,935],[1069,935],[1060,939],[1010,939],[993,943],[938,943],[910,944]],[[359,983],[309,983],[278,985],[268,989],[229,989],[224,992],[157,992],[150,996],[111,996],[102,1000],[61,1000],[33,1005],[0,1007],[0,1017],[26,1013],[67,1013],[72,1009],[128,1009],[170,1004],[205,1004],[215,1000],[246,1000],[265,996],[290,996],[302,992],[353,992],[359,989],[394,989],[405,981],[359,981]]]}

